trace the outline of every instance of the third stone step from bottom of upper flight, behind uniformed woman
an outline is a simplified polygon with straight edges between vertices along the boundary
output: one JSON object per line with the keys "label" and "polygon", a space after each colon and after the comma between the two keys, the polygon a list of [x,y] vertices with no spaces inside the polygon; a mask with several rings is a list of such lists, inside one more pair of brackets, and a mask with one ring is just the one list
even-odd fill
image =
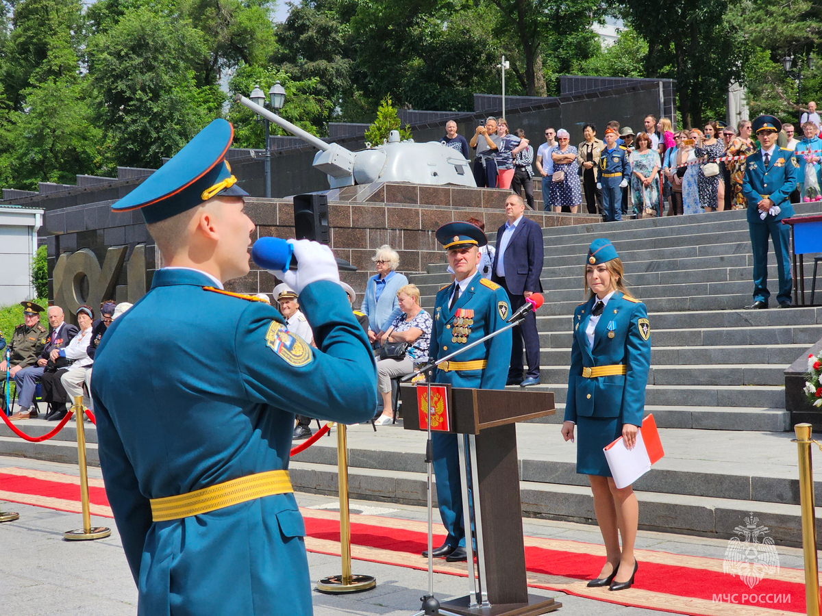
{"label": "third stone step from bottom of upper flight, behind uniformed woman", "polygon": [[[774,385],[784,386],[787,365],[651,365],[651,385]],[[568,365],[543,366],[540,379],[547,383],[568,380]]]}

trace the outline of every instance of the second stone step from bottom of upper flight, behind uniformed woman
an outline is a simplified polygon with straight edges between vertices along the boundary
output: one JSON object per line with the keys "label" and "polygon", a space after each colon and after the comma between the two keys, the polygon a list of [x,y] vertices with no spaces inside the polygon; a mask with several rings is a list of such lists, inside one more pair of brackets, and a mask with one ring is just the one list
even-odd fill
{"label": "second stone step from bottom of upper flight, behind uniformed woman", "polygon": [[[542,380],[533,390],[554,393],[555,402],[565,402],[567,380],[548,383]],[[784,385],[648,385],[645,404],[697,407],[785,407]]]}

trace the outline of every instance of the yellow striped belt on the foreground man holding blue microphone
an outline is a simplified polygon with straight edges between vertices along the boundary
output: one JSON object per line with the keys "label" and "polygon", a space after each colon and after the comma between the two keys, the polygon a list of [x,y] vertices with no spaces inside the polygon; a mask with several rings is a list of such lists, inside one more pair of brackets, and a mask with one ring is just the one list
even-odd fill
{"label": "yellow striped belt on the foreground man holding blue microphone", "polygon": [[289,471],[266,471],[224,481],[188,494],[151,499],[151,519],[155,522],[167,522],[196,516],[198,513],[209,513],[271,494],[293,491]]}

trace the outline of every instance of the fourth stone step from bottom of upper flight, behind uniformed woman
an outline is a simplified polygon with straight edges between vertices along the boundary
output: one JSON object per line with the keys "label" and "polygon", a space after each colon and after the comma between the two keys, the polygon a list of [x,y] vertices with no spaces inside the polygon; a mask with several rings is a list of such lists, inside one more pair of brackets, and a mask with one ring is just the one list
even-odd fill
{"label": "fourth stone step from bottom of upper flight, behind uniformed woman", "polygon": [[[651,365],[739,365],[751,361],[751,352],[755,351],[755,359],[760,364],[774,365],[784,370],[801,356],[808,345],[778,344],[751,349],[744,346],[710,346],[710,347],[651,347]],[[563,365],[570,358],[570,347],[550,348],[540,352],[540,364]]]}

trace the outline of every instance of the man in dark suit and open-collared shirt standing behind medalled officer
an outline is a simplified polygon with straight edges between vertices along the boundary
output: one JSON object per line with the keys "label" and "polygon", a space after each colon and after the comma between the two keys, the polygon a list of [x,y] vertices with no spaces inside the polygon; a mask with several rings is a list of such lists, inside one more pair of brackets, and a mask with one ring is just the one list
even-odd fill
{"label": "man in dark suit and open-collared shirt standing behind medalled officer", "polygon": [[[508,293],[511,310],[520,309],[525,298],[543,291],[539,276],[543,273],[543,229],[533,220],[524,217],[525,203],[520,195],[506,199],[508,220],[496,232],[496,256],[492,282],[501,285]],[[537,317],[529,312],[521,324],[513,329],[511,363],[506,385],[539,384],[539,334]],[[523,379],[522,347],[528,373]]]}

